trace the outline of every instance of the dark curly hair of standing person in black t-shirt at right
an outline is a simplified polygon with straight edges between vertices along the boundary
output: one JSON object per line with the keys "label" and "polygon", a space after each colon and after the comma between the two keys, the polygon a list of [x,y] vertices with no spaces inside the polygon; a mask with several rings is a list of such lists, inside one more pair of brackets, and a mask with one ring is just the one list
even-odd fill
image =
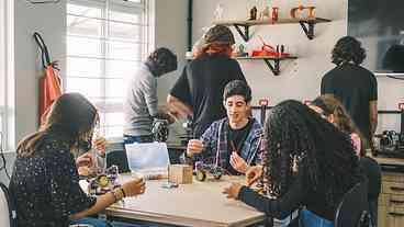
{"label": "dark curly hair of standing person in black t-shirt at right", "polygon": [[339,38],[332,54],[332,60],[337,66],[349,61],[360,65],[366,58],[364,48],[361,46],[361,43],[352,36]]}

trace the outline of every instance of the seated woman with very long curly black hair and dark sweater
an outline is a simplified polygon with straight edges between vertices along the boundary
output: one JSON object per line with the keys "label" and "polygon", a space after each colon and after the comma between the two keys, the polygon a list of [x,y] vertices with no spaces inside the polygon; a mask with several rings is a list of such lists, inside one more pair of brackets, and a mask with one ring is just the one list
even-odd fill
{"label": "seated woman with very long curly black hair and dark sweater", "polygon": [[361,180],[349,137],[306,105],[284,101],[268,116],[265,138],[263,173],[250,167],[246,175],[262,174],[267,196],[233,183],[224,189],[227,197],[278,219],[305,206],[304,226],[334,226],[338,203]]}

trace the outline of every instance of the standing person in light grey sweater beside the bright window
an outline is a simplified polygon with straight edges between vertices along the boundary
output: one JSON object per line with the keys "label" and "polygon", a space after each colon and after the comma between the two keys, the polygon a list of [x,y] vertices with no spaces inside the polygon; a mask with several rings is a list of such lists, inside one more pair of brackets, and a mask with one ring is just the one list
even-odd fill
{"label": "standing person in light grey sweater beside the bright window", "polygon": [[157,78],[177,69],[177,56],[168,48],[157,48],[131,78],[124,101],[124,143],[153,141],[154,118],[173,117],[158,110]]}

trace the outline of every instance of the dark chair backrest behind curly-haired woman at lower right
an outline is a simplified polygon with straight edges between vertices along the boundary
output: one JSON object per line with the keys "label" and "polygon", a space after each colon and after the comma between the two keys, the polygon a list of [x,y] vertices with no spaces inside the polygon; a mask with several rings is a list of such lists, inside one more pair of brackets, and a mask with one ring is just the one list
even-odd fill
{"label": "dark chair backrest behind curly-haired woman at lower right", "polygon": [[335,215],[335,227],[369,226],[367,182],[357,183],[343,197]]}

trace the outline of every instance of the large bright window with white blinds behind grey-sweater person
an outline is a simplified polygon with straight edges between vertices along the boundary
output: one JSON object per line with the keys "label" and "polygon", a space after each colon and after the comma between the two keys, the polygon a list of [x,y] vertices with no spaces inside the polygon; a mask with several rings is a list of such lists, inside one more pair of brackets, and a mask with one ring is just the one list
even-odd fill
{"label": "large bright window with white blinds behind grey-sweater person", "polygon": [[68,0],[66,91],[99,109],[101,134],[122,136],[125,80],[149,47],[148,1]]}

